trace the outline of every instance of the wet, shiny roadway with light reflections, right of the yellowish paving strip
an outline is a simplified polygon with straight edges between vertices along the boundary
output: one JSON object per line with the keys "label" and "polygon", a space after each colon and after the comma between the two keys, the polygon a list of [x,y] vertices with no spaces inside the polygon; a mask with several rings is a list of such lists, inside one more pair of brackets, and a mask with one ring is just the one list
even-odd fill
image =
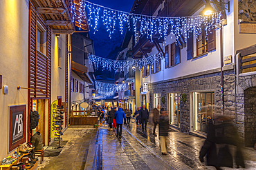
{"label": "wet, shiny roadway with light reflections, right of the yellowish paving strip", "polygon": [[[143,133],[141,127],[136,127],[134,120],[131,120],[131,127],[123,125],[121,141],[117,140],[115,131],[100,128],[102,169],[215,169],[199,161],[204,138],[172,129],[167,138],[167,156],[163,156],[158,136],[152,135],[152,128],[152,125],[148,125]],[[249,149],[243,152],[246,168],[256,169],[256,152]]]}

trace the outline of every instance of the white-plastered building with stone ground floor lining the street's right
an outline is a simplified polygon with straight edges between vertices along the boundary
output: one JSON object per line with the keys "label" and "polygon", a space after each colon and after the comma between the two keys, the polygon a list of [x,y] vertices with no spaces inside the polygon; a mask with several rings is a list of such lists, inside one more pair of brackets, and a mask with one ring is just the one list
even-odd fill
{"label": "white-plastered building with stone ground floor lining the street's right", "polygon": [[[140,78],[136,77],[141,89],[145,83],[148,85],[149,98],[143,95],[142,102],[149,110],[161,105],[169,111],[170,125],[202,136],[207,133],[208,125],[214,123],[214,116],[221,113],[232,116],[245,146],[252,147],[256,142],[252,96],[255,81],[252,49],[256,35],[242,30],[246,23],[242,18],[246,15],[240,9],[243,2],[224,2],[229,4],[221,4],[226,8],[226,20],[223,20],[226,23],[212,30],[212,34],[202,31],[196,38],[188,32],[191,36],[187,42],[172,34],[167,35],[165,42],[161,38],[150,41],[147,35],[136,41],[130,36],[129,44],[134,59],[163,55],[163,59],[153,65],[144,65]],[[167,17],[196,16],[205,8],[203,1],[139,2],[140,5],[150,3],[150,9],[135,8],[137,3],[134,2],[131,11]],[[186,8],[181,8],[184,6]]]}

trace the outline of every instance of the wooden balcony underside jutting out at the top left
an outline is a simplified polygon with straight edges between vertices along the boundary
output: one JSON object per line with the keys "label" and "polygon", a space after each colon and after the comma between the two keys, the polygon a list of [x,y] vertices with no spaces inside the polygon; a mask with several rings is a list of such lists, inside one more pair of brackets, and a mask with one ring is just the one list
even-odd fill
{"label": "wooden balcony underside jutting out at the top left", "polygon": [[[42,14],[46,25],[51,25],[54,34],[73,34],[75,25],[80,26],[84,32],[89,31],[86,19],[81,24],[78,23],[78,8],[80,0],[34,0],[37,6],[37,13]],[[71,6],[75,6],[72,11]],[[75,24],[73,17],[75,16]]]}

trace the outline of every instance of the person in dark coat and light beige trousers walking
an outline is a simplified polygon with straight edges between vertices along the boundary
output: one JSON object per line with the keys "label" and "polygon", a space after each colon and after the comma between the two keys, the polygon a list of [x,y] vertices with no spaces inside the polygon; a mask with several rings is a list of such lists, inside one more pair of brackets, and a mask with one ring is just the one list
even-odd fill
{"label": "person in dark coat and light beige trousers walking", "polygon": [[168,136],[168,129],[169,129],[169,118],[167,111],[161,111],[161,116],[159,117],[158,121],[158,128],[159,128],[159,138],[161,143],[161,152],[162,155],[167,155],[166,147],[166,138]]}

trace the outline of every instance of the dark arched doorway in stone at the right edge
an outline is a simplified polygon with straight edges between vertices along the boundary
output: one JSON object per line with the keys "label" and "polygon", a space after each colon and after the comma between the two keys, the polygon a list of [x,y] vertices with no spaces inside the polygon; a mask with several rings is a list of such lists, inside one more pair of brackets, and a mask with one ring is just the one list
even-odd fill
{"label": "dark arched doorway in stone at the right edge", "polygon": [[244,90],[245,146],[253,147],[256,142],[256,87]]}

